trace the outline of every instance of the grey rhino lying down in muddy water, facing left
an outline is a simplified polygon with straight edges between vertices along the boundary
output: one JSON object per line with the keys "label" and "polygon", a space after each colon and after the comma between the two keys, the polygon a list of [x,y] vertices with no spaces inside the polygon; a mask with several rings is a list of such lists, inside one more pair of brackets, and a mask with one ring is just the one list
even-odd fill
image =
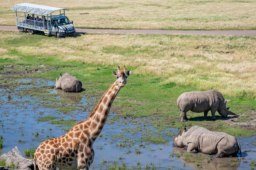
{"label": "grey rhino lying down in muddy water, facing left", "polygon": [[174,147],[187,147],[187,152],[204,154],[216,154],[216,157],[228,155],[236,156],[238,151],[242,156],[241,147],[237,139],[224,132],[213,132],[199,126],[193,126],[175,137]]}

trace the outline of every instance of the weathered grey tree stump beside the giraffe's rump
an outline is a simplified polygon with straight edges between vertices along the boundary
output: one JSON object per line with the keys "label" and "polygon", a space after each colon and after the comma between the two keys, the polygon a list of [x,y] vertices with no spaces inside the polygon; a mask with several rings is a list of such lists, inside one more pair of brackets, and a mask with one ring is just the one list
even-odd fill
{"label": "weathered grey tree stump beside the giraffe's rump", "polygon": [[[5,153],[0,156],[0,159],[4,159],[6,165],[11,165],[13,163],[16,169],[24,169],[24,170],[31,170],[34,169],[34,163],[32,159],[26,159],[22,156],[18,147],[12,149],[12,152]],[[3,168],[3,167],[1,167]],[[2,170],[0,168],[0,170]],[[3,168],[3,170],[8,168]]]}

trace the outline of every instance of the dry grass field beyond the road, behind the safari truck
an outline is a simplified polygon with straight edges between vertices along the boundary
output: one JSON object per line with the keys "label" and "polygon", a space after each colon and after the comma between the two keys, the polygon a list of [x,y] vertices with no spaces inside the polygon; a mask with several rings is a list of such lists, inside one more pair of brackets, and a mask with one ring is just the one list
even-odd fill
{"label": "dry grass field beyond the road, behind the safari truck", "polygon": [[[10,8],[22,0],[0,0],[1,25],[15,25]],[[32,0],[27,3],[35,3]],[[251,30],[256,29],[254,0],[97,0],[76,3],[44,1],[41,5],[68,8],[66,14],[76,28]],[[89,13],[80,15],[80,13]],[[24,13],[22,13],[24,14]]]}

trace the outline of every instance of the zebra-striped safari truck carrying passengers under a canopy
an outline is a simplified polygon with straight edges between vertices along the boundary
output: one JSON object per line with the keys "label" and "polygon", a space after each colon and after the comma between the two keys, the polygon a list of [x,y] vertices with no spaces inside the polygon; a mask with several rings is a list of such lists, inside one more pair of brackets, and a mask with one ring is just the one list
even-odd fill
{"label": "zebra-striped safari truck carrying passengers under a canopy", "polygon": [[[18,30],[28,31],[29,34],[43,31],[45,35],[54,35],[60,38],[73,36],[75,33],[73,21],[70,22],[68,17],[65,16],[65,10],[67,9],[20,3],[11,7],[11,10],[15,11]],[[18,15],[17,12],[21,14]]]}

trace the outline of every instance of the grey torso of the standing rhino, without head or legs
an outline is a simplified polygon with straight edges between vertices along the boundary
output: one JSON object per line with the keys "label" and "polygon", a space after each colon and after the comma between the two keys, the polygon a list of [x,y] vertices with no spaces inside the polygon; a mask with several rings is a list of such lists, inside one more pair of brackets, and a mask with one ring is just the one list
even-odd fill
{"label": "grey torso of the standing rhino, without head or legs", "polygon": [[219,105],[220,96],[222,97],[221,93],[215,90],[185,92],[179,97],[178,107],[185,112],[189,110],[196,113],[209,111],[211,106]]}

